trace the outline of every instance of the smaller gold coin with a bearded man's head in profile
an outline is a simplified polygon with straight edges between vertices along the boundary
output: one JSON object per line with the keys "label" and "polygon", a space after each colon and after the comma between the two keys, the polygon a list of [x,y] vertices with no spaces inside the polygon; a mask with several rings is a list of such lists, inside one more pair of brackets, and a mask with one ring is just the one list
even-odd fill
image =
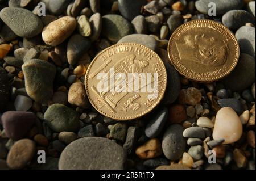
{"label": "smaller gold coin with a bearded man's head in profile", "polygon": [[240,50],[231,31],[213,20],[181,25],[168,43],[168,56],[180,74],[199,82],[216,81],[236,66]]}

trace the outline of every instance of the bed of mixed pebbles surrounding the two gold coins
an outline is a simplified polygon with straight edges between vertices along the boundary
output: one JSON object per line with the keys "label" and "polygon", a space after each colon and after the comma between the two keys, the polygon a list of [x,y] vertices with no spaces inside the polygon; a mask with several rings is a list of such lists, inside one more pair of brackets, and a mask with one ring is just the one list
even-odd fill
{"label": "bed of mixed pebbles surrounding the two gold coins", "polygon": [[[217,82],[193,82],[168,58],[172,33],[195,19],[224,24],[240,45]],[[119,43],[154,50],[167,70],[163,100],[137,120],[101,115],[85,91],[90,62]],[[0,117],[0,169],[254,170],[255,1],[0,1]]]}

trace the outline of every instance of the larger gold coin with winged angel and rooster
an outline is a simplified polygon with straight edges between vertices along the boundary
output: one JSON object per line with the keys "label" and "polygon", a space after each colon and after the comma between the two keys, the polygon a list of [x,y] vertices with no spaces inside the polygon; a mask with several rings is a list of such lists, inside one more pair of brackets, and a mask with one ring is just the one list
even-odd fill
{"label": "larger gold coin with winged angel and rooster", "polygon": [[92,106],[116,120],[131,120],[150,112],[163,98],[166,82],[160,57],[135,43],[102,50],[85,75],[85,89]]}

